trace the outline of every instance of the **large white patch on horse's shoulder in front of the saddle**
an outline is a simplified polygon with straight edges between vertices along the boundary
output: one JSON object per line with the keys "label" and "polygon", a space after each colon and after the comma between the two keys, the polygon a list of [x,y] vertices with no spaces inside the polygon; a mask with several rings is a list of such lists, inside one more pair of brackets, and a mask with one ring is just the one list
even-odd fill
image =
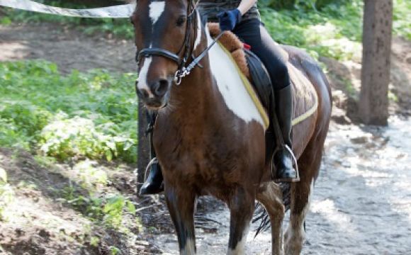
{"label": "large white patch on horse's shoulder in front of the saddle", "polygon": [[[205,33],[208,45],[210,45],[213,39],[210,37],[208,28],[205,29]],[[227,107],[246,123],[255,120],[264,128],[261,114],[245,89],[235,63],[230,60],[230,57],[217,43],[209,51],[209,57],[211,72]]]}

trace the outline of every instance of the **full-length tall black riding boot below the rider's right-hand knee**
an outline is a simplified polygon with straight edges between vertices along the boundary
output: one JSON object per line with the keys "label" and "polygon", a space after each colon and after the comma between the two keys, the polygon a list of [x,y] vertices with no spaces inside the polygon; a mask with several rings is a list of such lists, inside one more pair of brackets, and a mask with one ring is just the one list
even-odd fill
{"label": "full-length tall black riding boot below the rider's right-hand knee", "polygon": [[[276,181],[294,182],[298,180],[298,173],[293,168],[293,151],[291,142],[291,120],[293,118],[293,96],[291,86],[275,91],[276,101],[276,118],[278,125],[276,136],[278,137],[278,150],[274,154],[274,163],[276,166]],[[277,121],[274,120],[274,123]],[[295,162],[296,163],[296,162]]]}

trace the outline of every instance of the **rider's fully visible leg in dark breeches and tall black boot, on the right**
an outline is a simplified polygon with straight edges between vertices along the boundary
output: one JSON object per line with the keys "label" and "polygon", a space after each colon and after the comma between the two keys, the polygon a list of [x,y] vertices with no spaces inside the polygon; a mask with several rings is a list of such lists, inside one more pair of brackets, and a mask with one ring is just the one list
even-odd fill
{"label": "rider's fully visible leg in dark breeches and tall black boot, on the right", "polygon": [[[272,127],[276,129],[274,130],[275,134],[280,136],[280,139],[278,139],[280,145],[274,157],[277,169],[275,179],[279,181],[293,181],[297,178],[297,173],[293,169],[293,152],[291,150],[293,99],[286,57],[281,47],[274,42],[266,28],[257,18],[238,24],[233,32],[251,46],[252,52],[261,59],[269,71],[274,87],[276,108],[272,121],[274,125]],[[275,125],[276,123],[278,125]]]}

